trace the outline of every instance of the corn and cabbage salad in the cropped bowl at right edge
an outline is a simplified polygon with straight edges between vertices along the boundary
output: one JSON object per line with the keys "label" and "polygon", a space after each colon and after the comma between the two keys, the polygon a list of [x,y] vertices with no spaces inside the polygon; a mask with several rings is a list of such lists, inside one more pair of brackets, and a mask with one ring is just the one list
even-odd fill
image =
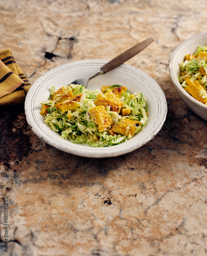
{"label": "corn and cabbage salad in the cropped bowl at right edge", "polygon": [[207,105],[207,46],[197,47],[185,56],[178,75],[181,86],[196,100]]}

